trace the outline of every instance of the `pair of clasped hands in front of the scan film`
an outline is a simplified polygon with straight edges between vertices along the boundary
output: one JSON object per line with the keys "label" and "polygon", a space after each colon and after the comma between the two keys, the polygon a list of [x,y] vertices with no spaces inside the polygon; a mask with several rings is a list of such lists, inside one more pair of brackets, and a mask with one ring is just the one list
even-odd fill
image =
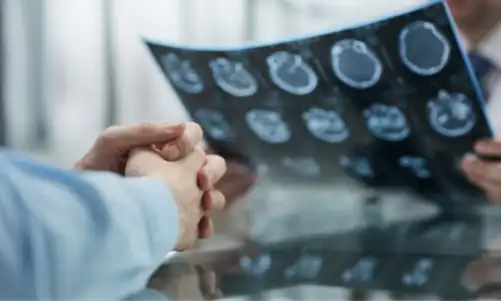
{"label": "pair of clasped hands in front of the scan film", "polygon": [[185,250],[212,235],[209,215],[225,206],[214,185],[225,174],[226,163],[198,146],[202,136],[200,126],[191,122],[115,126],[103,132],[75,167],[163,181],[178,209],[176,250]]}

